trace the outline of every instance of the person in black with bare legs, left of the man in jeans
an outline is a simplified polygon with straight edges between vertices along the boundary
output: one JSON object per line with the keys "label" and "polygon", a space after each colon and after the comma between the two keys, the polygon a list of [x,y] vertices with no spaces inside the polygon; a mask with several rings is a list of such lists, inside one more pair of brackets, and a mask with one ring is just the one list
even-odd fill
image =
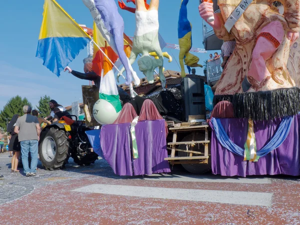
{"label": "person in black with bare legs, left of the man in jeans", "polygon": [[19,172],[20,170],[17,169],[18,159],[20,156],[21,146],[18,140],[17,133],[14,132],[14,126],[16,123],[17,118],[20,116],[18,114],[14,114],[10,120],[10,122],[7,125],[7,132],[11,135],[9,144],[8,144],[8,150],[9,152],[12,152],[12,158],[11,158],[11,169],[10,172]]}

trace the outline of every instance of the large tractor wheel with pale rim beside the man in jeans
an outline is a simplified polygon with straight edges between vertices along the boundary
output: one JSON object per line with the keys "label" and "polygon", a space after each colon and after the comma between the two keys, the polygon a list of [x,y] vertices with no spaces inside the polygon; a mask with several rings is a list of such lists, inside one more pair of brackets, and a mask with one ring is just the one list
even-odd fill
{"label": "large tractor wheel with pale rim beside the man in jeans", "polygon": [[42,131],[38,144],[39,160],[47,170],[64,167],[69,158],[70,145],[66,133],[56,127]]}

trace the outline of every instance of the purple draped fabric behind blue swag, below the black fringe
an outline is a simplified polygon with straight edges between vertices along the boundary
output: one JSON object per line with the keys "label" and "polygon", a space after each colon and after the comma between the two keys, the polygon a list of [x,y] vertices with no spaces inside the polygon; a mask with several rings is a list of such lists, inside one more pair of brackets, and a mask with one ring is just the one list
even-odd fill
{"label": "purple draped fabric behind blue swag, below the black fringe", "polygon": [[[248,119],[221,118],[225,132],[230,140],[244,148],[247,138]],[[281,118],[269,121],[254,121],[254,133],[257,151],[274,135]],[[299,121],[300,115],[295,115],[289,134],[283,143],[257,162],[243,161],[238,156],[224,148],[216,139],[214,131],[211,134],[211,167],[213,174],[224,176],[246,175],[300,175],[300,148],[299,148]]]}

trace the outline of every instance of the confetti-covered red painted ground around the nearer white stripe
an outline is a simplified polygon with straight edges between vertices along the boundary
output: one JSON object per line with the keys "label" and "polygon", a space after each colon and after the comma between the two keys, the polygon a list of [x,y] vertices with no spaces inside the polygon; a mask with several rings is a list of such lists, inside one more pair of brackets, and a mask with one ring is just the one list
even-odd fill
{"label": "confetti-covered red painted ground around the nearer white stripe", "polygon": [[[288,177],[271,184],[62,178],[0,205],[0,224],[300,224],[300,181]],[[273,198],[268,208],[71,191],[94,183],[272,192]]]}

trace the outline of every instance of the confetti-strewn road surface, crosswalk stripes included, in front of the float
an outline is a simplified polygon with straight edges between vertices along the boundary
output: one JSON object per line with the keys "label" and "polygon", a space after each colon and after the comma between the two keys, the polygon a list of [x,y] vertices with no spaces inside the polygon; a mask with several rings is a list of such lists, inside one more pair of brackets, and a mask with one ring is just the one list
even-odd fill
{"label": "confetti-strewn road surface, crosswalk stripes included, in front of the float", "polygon": [[0,153],[0,224],[300,224],[300,177],[114,175],[103,159],[37,175]]}

